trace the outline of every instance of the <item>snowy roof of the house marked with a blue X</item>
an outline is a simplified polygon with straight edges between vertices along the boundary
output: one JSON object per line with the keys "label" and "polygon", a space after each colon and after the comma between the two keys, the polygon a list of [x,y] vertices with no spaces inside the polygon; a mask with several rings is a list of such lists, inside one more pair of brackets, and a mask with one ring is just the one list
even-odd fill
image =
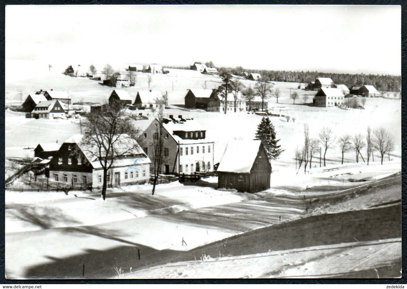
{"label": "snowy roof of the house marked with a blue X", "polygon": [[[102,166],[98,160],[97,151],[98,148],[88,143],[82,142],[83,135],[75,134],[68,138],[64,143],[72,143],[77,144],[79,149],[81,149],[82,153],[88,159],[90,164],[93,166],[94,169],[100,169]],[[137,143],[137,141],[133,138],[130,138],[127,134],[122,134],[119,136],[118,140],[116,141],[116,155],[142,155],[138,157],[136,164],[149,164],[151,160],[149,157],[144,153],[143,149]],[[131,148],[131,149],[129,149]],[[129,150],[129,151],[127,151]],[[95,152],[95,153],[92,153]],[[102,151],[103,155],[104,151]],[[94,155],[96,154],[96,155]],[[123,156],[124,156],[123,155]],[[120,158],[113,161],[113,166],[131,166],[134,164],[136,160],[133,158]]]}

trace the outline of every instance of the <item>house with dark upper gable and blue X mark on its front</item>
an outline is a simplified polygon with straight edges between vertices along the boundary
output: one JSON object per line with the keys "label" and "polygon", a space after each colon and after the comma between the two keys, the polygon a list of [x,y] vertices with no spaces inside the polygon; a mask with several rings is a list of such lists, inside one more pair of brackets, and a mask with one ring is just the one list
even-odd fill
{"label": "house with dark upper gable and blue X mark on its front", "polygon": [[[103,168],[98,160],[98,149],[81,142],[82,138],[80,134],[74,135],[63,142],[49,162],[49,177],[54,182],[101,188]],[[107,171],[108,186],[149,182],[151,161],[136,140],[123,134],[119,136],[116,144],[116,159]]]}

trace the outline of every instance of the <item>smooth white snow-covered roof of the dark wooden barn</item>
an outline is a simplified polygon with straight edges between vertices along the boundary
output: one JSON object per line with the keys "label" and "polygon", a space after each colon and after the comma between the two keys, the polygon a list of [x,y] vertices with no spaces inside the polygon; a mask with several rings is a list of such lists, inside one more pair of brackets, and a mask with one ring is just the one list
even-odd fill
{"label": "smooth white snow-covered roof of the dark wooden barn", "polygon": [[219,163],[218,171],[250,173],[260,144],[260,140],[229,141]]}

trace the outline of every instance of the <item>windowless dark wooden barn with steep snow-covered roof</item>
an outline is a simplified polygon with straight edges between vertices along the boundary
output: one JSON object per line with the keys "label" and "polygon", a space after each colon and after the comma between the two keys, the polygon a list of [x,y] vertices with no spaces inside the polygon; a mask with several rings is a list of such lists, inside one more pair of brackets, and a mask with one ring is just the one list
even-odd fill
{"label": "windowless dark wooden barn with steep snow-covered roof", "polygon": [[247,193],[270,188],[271,164],[261,140],[228,142],[217,172],[218,188]]}

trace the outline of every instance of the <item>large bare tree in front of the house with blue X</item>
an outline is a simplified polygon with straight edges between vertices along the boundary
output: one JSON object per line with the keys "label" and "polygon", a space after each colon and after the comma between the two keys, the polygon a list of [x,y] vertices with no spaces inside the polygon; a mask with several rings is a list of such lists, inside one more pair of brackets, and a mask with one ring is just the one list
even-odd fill
{"label": "large bare tree in front of the house with blue X", "polygon": [[83,150],[97,158],[103,168],[103,199],[106,198],[107,171],[114,160],[138,147],[135,138],[139,130],[125,118],[122,108],[120,103],[106,106],[103,112],[86,114],[81,121]]}

